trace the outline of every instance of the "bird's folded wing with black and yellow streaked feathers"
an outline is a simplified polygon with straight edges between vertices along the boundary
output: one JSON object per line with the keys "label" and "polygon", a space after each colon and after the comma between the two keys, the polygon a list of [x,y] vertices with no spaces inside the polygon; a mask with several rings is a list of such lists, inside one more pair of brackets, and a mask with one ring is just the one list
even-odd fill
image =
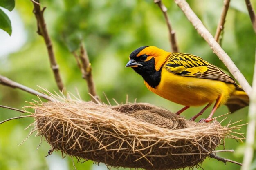
{"label": "bird's folded wing with black and yellow streaked feathers", "polygon": [[214,79],[236,84],[234,79],[226,75],[218,67],[191,54],[172,53],[164,67],[166,70],[181,76]]}

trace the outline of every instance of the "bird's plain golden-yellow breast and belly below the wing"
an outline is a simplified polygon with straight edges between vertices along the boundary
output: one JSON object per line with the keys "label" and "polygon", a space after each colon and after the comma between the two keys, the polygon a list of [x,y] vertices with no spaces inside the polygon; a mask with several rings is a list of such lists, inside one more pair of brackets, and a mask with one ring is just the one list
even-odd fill
{"label": "bird's plain golden-yellow breast and belly below the wing", "polygon": [[201,106],[223,95],[221,104],[225,104],[230,94],[235,91],[235,85],[212,79],[185,77],[171,73],[162,68],[161,81],[156,88],[145,82],[153,93],[177,104],[185,106]]}

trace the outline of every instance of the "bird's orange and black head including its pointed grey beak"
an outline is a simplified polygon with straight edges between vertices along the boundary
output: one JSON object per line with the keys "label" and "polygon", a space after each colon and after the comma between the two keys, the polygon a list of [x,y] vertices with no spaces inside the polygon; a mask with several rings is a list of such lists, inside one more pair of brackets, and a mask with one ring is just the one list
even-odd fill
{"label": "bird's orange and black head including its pointed grey beak", "polygon": [[[136,73],[153,88],[159,84],[161,79],[162,60],[160,57],[167,54],[166,51],[155,46],[142,46],[130,54],[130,61],[126,67],[131,67]],[[166,58],[166,57],[165,57]]]}

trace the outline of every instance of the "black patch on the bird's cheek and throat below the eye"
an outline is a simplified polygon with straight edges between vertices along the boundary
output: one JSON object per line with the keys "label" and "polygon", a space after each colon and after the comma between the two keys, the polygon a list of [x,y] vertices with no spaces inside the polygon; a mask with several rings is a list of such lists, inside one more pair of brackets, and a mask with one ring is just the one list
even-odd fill
{"label": "black patch on the bird's cheek and throat below the eye", "polygon": [[133,67],[134,71],[141,75],[145,82],[148,83],[152,88],[156,88],[161,80],[161,71],[162,67],[159,71],[155,70],[155,59],[152,58],[146,62],[143,62],[143,66]]}

